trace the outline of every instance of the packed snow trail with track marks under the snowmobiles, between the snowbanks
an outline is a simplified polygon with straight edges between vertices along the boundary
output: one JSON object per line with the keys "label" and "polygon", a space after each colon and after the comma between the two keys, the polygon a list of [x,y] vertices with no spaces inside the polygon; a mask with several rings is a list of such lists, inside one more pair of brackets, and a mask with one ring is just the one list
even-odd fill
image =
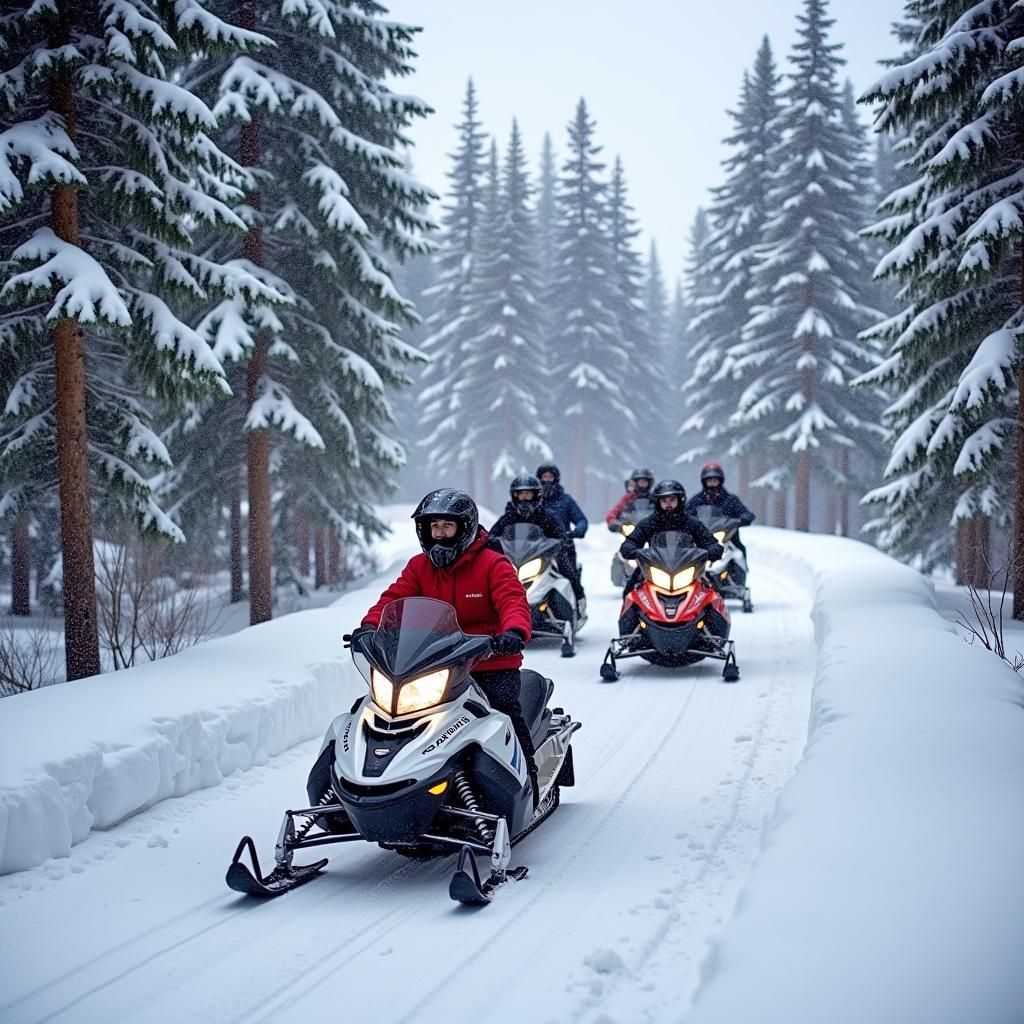
{"label": "packed snow trail with track marks under the snowmobiles, between the snowbanks", "polygon": [[803,749],[808,601],[759,571],[755,614],[734,616],[736,685],[715,665],[638,660],[602,684],[618,604],[609,551],[607,536],[584,547],[578,656],[527,653],[584,728],[577,786],[514,851],[524,882],[467,910],[447,899],[452,859],[352,845],[326,851],[327,872],[295,893],[236,897],[223,885],[233,846],[251,833],[272,857],[281,813],[303,799],[306,743],[0,878],[0,1020],[679,1019]]}

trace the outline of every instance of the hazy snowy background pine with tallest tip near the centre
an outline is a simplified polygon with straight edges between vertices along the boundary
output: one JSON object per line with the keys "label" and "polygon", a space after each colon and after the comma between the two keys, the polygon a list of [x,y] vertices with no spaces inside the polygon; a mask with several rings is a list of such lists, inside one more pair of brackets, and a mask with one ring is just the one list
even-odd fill
{"label": "hazy snowy background pine with tallest tip near the centre", "polygon": [[[562,414],[554,439],[572,452],[573,494],[581,503],[588,478],[618,478],[637,426],[623,387],[630,367],[611,295],[607,184],[594,128],[581,99],[558,181],[557,258],[547,302],[552,393]],[[559,427],[568,436],[559,438]]]}

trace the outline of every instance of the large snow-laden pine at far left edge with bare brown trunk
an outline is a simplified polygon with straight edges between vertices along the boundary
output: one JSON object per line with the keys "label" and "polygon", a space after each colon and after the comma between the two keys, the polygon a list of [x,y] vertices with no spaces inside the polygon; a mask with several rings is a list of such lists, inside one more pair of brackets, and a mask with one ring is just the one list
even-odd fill
{"label": "large snow-laden pine at far left edge with bare brown trunk", "polygon": [[146,399],[226,390],[183,310],[214,295],[282,299],[194,250],[198,225],[244,230],[230,204],[248,182],[173,76],[195,52],[263,40],[196,0],[8,5],[0,34],[3,492],[19,505],[59,494],[76,679],[99,671],[90,466],[103,507],[179,538],[148,482],[170,460]]}

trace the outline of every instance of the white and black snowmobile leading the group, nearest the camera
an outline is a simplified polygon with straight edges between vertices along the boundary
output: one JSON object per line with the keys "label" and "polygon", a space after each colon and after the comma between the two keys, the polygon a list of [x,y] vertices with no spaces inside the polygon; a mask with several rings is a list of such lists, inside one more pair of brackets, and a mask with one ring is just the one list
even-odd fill
{"label": "white and black snowmobile leading the group, nearest the camera", "polygon": [[[327,864],[296,864],[297,851],[361,841],[415,859],[458,852],[450,895],[465,904],[489,902],[496,887],[526,874],[509,866],[512,846],[558,807],[561,787],[573,784],[570,740],[581,723],[561,708],[549,710],[550,679],[521,673],[539,774],[535,807],[511,721],[470,676],[490,653],[490,637],[464,634],[443,601],[409,597],[384,609],[375,632],[346,640],[369,692],[327,730],[306,782],[309,806],[285,812],[275,866],[262,873],[246,836],[227,885],[249,896],[280,896]],[[489,858],[485,881],[477,854]]]}

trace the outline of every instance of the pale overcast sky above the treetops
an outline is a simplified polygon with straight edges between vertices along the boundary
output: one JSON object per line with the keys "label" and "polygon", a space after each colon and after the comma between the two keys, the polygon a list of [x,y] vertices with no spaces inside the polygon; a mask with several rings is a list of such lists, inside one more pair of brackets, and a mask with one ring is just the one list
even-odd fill
{"label": "pale overcast sky above the treetops", "polygon": [[[546,131],[556,152],[581,96],[609,163],[623,158],[630,199],[667,280],[681,272],[686,236],[708,189],[721,180],[726,110],[767,33],[780,70],[803,0],[382,0],[390,16],[423,31],[417,72],[402,91],[435,114],[414,131],[417,175],[446,187],[466,80],[473,77],[484,128],[504,152],[512,118],[536,174]],[[831,0],[833,42],[858,94],[878,60],[897,52],[890,26],[901,0]],[[865,109],[863,116],[869,119]]]}

